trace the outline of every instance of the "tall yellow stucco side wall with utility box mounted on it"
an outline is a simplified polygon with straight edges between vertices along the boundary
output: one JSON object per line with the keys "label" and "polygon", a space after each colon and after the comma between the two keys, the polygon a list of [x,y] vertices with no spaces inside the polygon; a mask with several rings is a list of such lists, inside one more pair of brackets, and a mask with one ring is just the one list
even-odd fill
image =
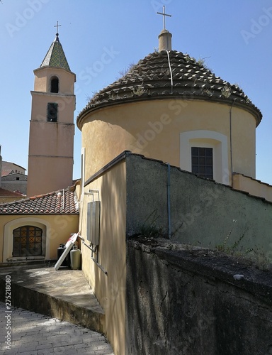
{"label": "tall yellow stucco side wall with utility box mounted on it", "polygon": [[[86,166],[91,160],[86,161]],[[104,332],[114,348],[115,355],[125,354],[125,162],[113,166],[85,187],[85,192],[98,190],[101,200],[101,233],[98,254],[92,253],[84,245],[86,241],[87,203],[92,202],[91,195],[84,195],[81,202],[80,235],[82,270],[86,279],[105,311]],[[98,194],[94,194],[98,200]],[[94,262],[97,260],[103,268]]]}

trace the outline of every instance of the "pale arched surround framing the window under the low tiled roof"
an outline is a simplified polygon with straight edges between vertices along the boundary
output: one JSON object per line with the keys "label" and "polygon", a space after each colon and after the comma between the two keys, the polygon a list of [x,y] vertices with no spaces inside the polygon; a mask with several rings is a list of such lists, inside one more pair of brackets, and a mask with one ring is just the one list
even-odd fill
{"label": "pale arched surround framing the window under the low tiled roof", "polygon": [[[6,263],[8,258],[12,258],[13,251],[13,229],[18,228],[19,226],[38,226],[42,229],[42,249],[45,248],[45,251],[42,250],[42,255],[45,259],[49,258],[50,254],[50,238],[48,237],[48,231],[50,231],[50,224],[45,221],[45,219],[26,217],[14,219],[11,222],[8,222],[4,226],[4,248],[3,248],[3,262]],[[42,256],[40,256],[42,258]],[[14,258],[16,259],[16,258]],[[25,257],[26,259],[26,257]]]}

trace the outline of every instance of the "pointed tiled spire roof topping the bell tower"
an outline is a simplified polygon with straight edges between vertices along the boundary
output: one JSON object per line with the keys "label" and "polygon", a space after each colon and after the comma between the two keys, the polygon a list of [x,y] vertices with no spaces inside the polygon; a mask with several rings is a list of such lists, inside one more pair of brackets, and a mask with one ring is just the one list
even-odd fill
{"label": "pointed tiled spire roof topping the bell tower", "polygon": [[45,59],[42,60],[40,67],[62,67],[63,69],[69,70],[69,72],[71,71],[64,50],[62,49],[62,45],[60,44],[58,34],[46,53]]}

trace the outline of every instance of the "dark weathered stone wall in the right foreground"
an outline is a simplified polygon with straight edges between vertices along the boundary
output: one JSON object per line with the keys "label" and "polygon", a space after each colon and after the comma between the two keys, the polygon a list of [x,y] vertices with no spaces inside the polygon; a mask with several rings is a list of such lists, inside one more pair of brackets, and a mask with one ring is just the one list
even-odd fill
{"label": "dark weathered stone wall in the right foreground", "polygon": [[143,240],[127,242],[126,355],[272,354],[271,272]]}

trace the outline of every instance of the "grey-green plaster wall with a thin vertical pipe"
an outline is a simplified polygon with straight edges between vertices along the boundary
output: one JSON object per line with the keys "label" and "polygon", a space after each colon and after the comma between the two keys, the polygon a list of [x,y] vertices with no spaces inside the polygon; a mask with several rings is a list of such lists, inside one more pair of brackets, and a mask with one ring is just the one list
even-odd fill
{"label": "grey-green plaster wall with a thin vertical pipe", "polygon": [[168,165],[140,155],[128,155],[126,162],[128,236],[152,226],[182,243],[210,248],[238,243],[243,251],[272,259],[270,202],[175,167],[168,175]]}

